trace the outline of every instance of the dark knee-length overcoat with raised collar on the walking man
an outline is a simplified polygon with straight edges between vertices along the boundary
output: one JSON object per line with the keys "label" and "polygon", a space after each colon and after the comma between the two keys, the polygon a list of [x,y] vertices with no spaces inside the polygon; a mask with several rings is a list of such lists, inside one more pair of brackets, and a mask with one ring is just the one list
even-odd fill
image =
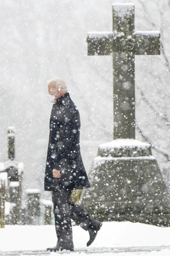
{"label": "dark knee-length overcoat with raised collar on the walking man", "polygon": [[[69,93],[65,93],[55,101],[51,111],[45,190],[52,191],[61,187],[84,189],[91,186],[82,162],[79,135],[79,111]],[[60,178],[54,177],[53,169],[60,171]],[[71,175],[69,180],[61,183],[65,170]]]}

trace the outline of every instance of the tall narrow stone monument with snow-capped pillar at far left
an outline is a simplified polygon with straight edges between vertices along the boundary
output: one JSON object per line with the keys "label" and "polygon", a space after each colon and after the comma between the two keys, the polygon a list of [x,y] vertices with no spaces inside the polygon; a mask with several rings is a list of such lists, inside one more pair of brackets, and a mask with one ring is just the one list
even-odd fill
{"label": "tall narrow stone monument with snow-capped pillar at far left", "polygon": [[22,176],[24,165],[15,159],[15,128],[8,127],[8,159],[0,161],[0,174],[7,173],[6,202],[10,204],[6,224],[23,223]]}

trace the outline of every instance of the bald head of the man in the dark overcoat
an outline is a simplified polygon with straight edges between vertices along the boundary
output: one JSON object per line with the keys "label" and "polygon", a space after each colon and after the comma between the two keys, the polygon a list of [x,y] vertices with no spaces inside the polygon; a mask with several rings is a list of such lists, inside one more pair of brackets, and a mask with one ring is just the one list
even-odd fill
{"label": "bald head of the man in the dark overcoat", "polygon": [[[55,93],[57,91],[57,93]],[[67,86],[65,81],[59,77],[52,79],[48,83],[48,93],[54,95],[55,97],[62,96],[63,94],[67,93]]]}

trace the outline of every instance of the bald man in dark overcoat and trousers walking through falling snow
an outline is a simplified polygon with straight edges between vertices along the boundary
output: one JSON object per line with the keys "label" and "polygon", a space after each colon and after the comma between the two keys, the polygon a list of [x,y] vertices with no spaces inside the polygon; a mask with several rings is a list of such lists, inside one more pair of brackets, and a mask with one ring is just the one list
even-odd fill
{"label": "bald man in dark overcoat and trousers walking through falling snow", "polygon": [[50,251],[74,250],[71,219],[89,232],[89,246],[102,226],[78,204],[69,201],[74,189],[90,187],[80,153],[80,116],[61,78],[48,84],[54,97],[50,117],[50,134],[45,168],[44,189],[51,191],[54,204],[57,245]]}

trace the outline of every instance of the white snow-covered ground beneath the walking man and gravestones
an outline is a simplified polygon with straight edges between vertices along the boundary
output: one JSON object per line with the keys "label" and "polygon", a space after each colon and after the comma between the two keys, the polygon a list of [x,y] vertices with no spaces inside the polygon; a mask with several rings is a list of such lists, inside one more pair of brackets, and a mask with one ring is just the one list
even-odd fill
{"label": "white snow-covered ground beneath the walking man and gravestones", "polygon": [[[87,248],[86,243],[89,239],[88,232],[79,226],[73,227],[74,249]],[[45,250],[47,247],[54,247],[57,243],[57,236],[54,225],[44,226],[19,226],[6,225],[0,229],[0,253],[1,251],[11,250]],[[111,252],[109,248],[114,247],[146,247],[146,246],[169,246],[170,227],[156,227],[142,223],[126,222],[103,222],[93,244],[88,249],[91,255],[97,255],[97,248],[102,248],[100,255],[119,255],[119,256],[169,256],[170,249],[162,249],[152,252],[119,252],[115,249]],[[101,250],[100,250],[101,251]],[[62,255],[68,255],[63,253]],[[71,253],[72,254],[72,253]],[[87,255],[85,252],[73,252],[74,255]],[[51,256],[57,253],[51,252]]]}

